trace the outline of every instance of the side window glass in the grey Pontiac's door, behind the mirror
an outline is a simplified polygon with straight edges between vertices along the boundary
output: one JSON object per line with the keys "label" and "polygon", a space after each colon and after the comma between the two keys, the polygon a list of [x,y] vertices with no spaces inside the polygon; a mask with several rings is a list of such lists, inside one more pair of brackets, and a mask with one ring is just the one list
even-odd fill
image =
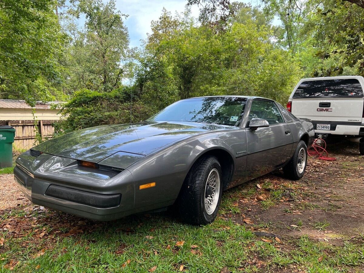
{"label": "side window glass in the grey Pontiac's door, behind the mirror", "polygon": [[282,115],[276,104],[268,100],[253,100],[248,121],[250,122],[253,118],[265,119],[269,124],[283,122]]}

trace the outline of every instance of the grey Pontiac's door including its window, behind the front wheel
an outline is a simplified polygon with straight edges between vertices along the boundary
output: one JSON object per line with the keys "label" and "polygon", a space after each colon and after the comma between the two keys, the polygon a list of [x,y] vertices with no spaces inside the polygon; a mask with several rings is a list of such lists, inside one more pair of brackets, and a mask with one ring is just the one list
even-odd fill
{"label": "grey Pontiac's door including its window, behind the front wheel", "polygon": [[[269,127],[249,128],[253,118],[265,119]],[[276,103],[272,100],[254,99],[246,126],[248,158],[246,175],[248,179],[284,165],[292,151],[293,138],[289,125],[286,123]]]}

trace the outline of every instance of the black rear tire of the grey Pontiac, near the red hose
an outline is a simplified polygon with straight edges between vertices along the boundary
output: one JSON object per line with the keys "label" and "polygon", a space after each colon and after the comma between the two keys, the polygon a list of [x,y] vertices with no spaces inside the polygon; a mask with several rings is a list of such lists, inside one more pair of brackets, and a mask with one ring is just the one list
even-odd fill
{"label": "black rear tire of the grey Pontiac, near the red hose", "polygon": [[[298,155],[302,149],[304,150],[304,153],[305,153],[304,167],[303,167],[303,170],[302,169],[299,170],[298,162],[300,159],[298,158]],[[306,171],[307,158],[308,158],[307,146],[306,146],[306,143],[301,140],[300,142],[298,142],[298,145],[297,145],[296,150],[294,151],[293,157],[290,159],[288,164],[283,167],[284,175],[291,180],[301,179]]]}

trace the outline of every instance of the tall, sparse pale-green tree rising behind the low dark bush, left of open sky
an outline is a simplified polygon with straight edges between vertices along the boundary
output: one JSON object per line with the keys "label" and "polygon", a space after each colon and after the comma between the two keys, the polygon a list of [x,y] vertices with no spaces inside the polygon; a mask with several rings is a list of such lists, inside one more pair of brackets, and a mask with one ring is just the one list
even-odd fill
{"label": "tall, sparse pale-green tree rising behind the low dark bush, left of open sky", "polygon": [[[110,91],[120,87],[131,62],[127,15],[116,11],[115,1],[81,0],[68,12],[64,28],[72,37],[65,78],[70,93],[80,89]],[[80,29],[72,16],[86,17]]]}

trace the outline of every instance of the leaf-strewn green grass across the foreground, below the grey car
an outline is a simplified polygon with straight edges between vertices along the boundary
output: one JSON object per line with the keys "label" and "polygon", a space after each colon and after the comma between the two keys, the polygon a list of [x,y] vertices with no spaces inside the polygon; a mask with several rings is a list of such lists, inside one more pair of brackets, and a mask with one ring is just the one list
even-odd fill
{"label": "leaf-strewn green grass across the foreground, below the grey car", "polygon": [[[26,211],[16,210],[3,215],[3,220],[24,215]],[[31,220],[18,224],[32,226],[29,233],[15,233],[3,242],[2,270],[220,272],[227,266],[234,272],[286,267],[297,272],[345,272],[364,262],[364,246],[349,240],[343,246],[332,246],[312,242],[308,236],[295,240],[257,237],[253,226],[221,218],[211,225],[195,227],[163,214],[107,223],[71,215],[64,222],[65,215],[53,211],[36,211],[28,216]],[[3,238],[7,233],[3,231]]]}

